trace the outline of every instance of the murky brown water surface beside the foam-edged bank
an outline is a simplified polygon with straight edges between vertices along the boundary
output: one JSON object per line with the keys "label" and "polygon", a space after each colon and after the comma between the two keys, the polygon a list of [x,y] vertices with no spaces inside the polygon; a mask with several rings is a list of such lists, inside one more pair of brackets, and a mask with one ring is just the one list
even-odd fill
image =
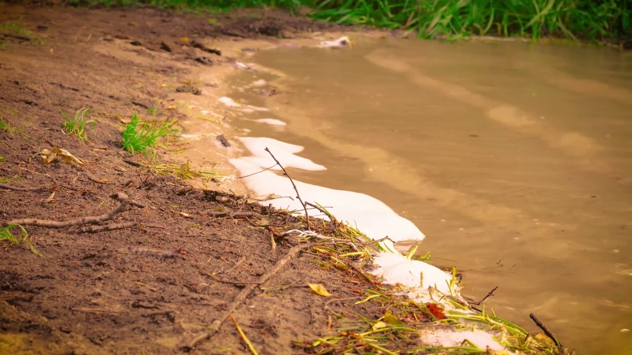
{"label": "murky brown water surface beside the foam-edged bank", "polygon": [[253,61],[286,93],[250,136],[303,145],[293,178],[374,196],[410,219],[463,294],[581,354],[632,354],[632,56],[531,44],[359,43]]}

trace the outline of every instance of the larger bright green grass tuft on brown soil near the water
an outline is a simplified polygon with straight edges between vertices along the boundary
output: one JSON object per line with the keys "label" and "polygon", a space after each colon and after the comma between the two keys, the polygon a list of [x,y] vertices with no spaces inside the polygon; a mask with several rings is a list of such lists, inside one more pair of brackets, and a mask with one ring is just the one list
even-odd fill
{"label": "larger bright green grass tuft on brown soil near the water", "polygon": [[142,153],[148,155],[154,152],[154,148],[159,143],[158,138],[166,137],[173,132],[177,132],[178,129],[170,129],[175,121],[166,121],[162,124],[157,124],[153,121],[152,124],[147,122],[141,123],[138,120],[138,116],[134,114],[131,117],[130,123],[125,126],[123,131],[123,148],[133,154]]}

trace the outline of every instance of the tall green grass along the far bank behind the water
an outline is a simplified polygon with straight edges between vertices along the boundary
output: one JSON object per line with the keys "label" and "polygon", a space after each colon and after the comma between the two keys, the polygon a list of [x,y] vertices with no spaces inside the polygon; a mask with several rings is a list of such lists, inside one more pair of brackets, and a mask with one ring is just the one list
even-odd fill
{"label": "tall green grass along the far bank behind the water", "polygon": [[313,18],[416,31],[418,37],[545,36],[617,40],[632,35],[629,0],[324,0]]}

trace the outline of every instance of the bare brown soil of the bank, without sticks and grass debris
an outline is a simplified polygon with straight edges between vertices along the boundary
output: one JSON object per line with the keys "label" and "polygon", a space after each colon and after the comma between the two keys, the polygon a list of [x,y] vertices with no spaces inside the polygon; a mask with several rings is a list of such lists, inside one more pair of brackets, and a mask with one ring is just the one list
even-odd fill
{"label": "bare brown soil of the bank, without sticks and grass debris", "polygon": [[[355,304],[378,284],[363,281],[357,270],[332,267],[328,255],[308,248],[264,284],[253,284],[303,243],[281,233],[305,229],[304,222],[212,186],[197,190],[157,174],[143,165],[147,157],[121,146],[133,112],[185,119],[182,110],[168,109],[173,95],[196,94],[189,87],[176,91],[181,78],[233,65],[210,39],[291,37],[331,25],[282,12],[222,15],[214,25],[205,16],[152,8],[0,9],[0,23],[32,31],[0,30],[6,34],[0,36],[0,114],[10,125],[0,131],[6,159],[0,175],[9,186],[31,190],[0,188],[3,226],[15,219],[109,214],[121,206],[122,194],[137,202],[126,202],[102,226],[26,225],[41,256],[24,243],[0,243],[0,354],[243,354],[248,349],[230,319],[193,349],[183,345],[253,285],[230,316],[259,354],[304,353],[295,340],[326,335],[357,320],[356,312],[384,315],[380,303]],[[94,109],[87,142],[62,129],[60,110],[74,116],[80,107]],[[46,164],[39,152],[54,147],[86,164]],[[122,228],[90,231],[113,225]],[[335,229],[315,225],[322,233]],[[308,283],[324,284],[333,296],[316,294]]]}

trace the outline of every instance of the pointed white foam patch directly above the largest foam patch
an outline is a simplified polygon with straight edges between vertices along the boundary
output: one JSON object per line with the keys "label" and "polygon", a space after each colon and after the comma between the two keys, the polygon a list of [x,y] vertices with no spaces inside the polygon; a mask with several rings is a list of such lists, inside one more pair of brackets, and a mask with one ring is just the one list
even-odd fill
{"label": "pointed white foam patch directly above the largest foam patch", "polygon": [[[274,157],[276,157],[276,159],[278,159],[286,169],[288,167],[295,167],[308,171],[320,171],[327,169],[323,165],[312,162],[312,160],[295,155],[295,153],[299,153],[303,150],[303,147],[300,145],[289,144],[283,141],[264,137],[241,137],[239,139],[241,140],[241,143],[243,143],[243,145],[252,152],[250,157],[242,157],[241,159],[258,165],[264,169],[276,164],[274,159],[270,157],[270,154],[265,152],[266,147],[270,149],[270,152],[274,154]],[[281,170],[281,167],[276,165],[272,167],[272,170]]]}

